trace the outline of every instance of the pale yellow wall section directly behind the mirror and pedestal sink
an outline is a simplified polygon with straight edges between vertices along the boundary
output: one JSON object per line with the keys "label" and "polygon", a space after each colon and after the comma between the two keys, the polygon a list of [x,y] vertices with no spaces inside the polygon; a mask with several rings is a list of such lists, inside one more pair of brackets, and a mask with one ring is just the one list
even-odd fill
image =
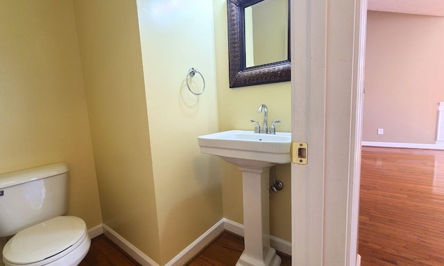
{"label": "pale yellow wall section directly behind the mirror and pedestal sink", "polygon": [[[219,129],[253,130],[250,119],[261,121],[257,113],[262,103],[268,106],[268,121],[281,120],[280,132],[291,132],[291,82],[230,89],[228,84],[228,33],[225,0],[214,0],[214,32],[216,39],[217,96]],[[284,190],[273,193],[270,199],[271,234],[291,241],[291,169],[290,165],[275,166],[276,178],[284,183]],[[237,166],[221,161],[223,188],[223,216],[243,223],[242,179]]]}

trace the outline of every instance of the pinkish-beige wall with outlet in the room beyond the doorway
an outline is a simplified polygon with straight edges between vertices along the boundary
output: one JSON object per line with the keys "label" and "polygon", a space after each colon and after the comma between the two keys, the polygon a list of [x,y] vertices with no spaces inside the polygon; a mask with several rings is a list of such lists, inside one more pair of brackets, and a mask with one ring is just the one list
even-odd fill
{"label": "pinkish-beige wall with outlet in the room beyond the doorway", "polygon": [[363,141],[435,143],[443,31],[443,17],[368,12]]}

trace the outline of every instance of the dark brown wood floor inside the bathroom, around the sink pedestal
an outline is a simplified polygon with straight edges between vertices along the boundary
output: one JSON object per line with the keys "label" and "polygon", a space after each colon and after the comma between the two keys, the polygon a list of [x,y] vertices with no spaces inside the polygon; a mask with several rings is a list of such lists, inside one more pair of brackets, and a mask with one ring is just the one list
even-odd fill
{"label": "dark brown wood floor inside the bathroom, around the sink pedestal", "polygon": [[[223,232],[196,258],[191,260],[188,266],[234,266],[244,251],[244,238],[229,232]],[[282,258],[282,266],[291,266],[291,258],[278,253]],[[91,242],[91,248],[87,256],[79,266],[139,266],[117,245],[106,236],[101,235]]]}

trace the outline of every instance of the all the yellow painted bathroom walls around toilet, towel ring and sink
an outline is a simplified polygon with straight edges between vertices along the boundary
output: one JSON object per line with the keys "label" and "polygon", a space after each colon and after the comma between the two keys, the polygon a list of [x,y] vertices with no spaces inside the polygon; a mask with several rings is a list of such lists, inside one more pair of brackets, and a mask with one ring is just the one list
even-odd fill
{"label": "all the yellow painted bathroom walls around toilet, towel ring and sink", "polygon": [[[229,89],[225,0],[194,1],[0,1],[0,172],[66,161],[68,214],[89,228],[103,215],[160,265],[243,220],[240,170],[197,136],[253,129],[262,103],[291,128],[290,83]],[[271,233],[290,240],[289,165],[275,172]]]}

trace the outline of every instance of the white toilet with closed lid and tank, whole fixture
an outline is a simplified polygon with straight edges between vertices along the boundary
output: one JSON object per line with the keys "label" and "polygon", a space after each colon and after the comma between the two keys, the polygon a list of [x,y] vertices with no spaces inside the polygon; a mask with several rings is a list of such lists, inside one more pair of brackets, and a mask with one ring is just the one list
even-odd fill
{"label": "white toilet with closed lid and tank, whole fixture", "polygon": [[61,216],[67,187],[65,163],[0,175],[0,237],[12,236],[3,248],[6,266],[74,266],[85,258],[85,222]]}

